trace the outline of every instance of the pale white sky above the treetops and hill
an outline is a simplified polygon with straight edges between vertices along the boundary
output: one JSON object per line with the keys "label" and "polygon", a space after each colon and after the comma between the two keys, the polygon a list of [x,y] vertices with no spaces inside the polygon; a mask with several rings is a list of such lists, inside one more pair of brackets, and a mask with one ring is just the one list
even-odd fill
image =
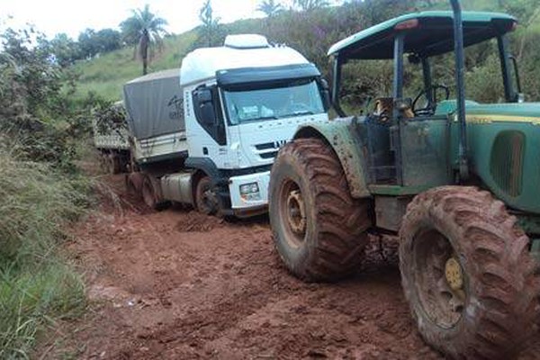
{"label": "pale white sky above the treetops and hill", "polygon": [[[199,10],[204,0],[0,0],[0,31],[7,27],[22,28],[27,23],[52,38],[65,32],[76,39],[86,28],[118,29],[122,20],[130,17],[131,9],[150,5],[150,11],[165,18],[166,30],[182,33],[199,22]],[[214,14],[221,23],[238,19],[262,17],[257,12],[260,0],[212,0]],[[289,5],[292,0],[282,0]]]}

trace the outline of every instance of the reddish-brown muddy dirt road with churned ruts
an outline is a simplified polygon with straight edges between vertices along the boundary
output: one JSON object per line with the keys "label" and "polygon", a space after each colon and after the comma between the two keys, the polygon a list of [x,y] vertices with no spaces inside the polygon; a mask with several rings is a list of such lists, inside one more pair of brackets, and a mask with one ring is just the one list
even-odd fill
{"label": "reddish-brown muddy dirt road with churned ruts", "polygon": [[[145,211],[111,179],[121,208],[74,229],[91,311],[66,324],[82,359],[439,359],[424,345],[396,265],[374,253],[362,275],[303,284],[288,275],[266,218],[223,222]],[[66,335],[67,334],[67,335]],[[58,343],[58,341],[57,341]],[[56,358],[56,347],[45,347]],[[540,337],[522,360],[540,359]]]}

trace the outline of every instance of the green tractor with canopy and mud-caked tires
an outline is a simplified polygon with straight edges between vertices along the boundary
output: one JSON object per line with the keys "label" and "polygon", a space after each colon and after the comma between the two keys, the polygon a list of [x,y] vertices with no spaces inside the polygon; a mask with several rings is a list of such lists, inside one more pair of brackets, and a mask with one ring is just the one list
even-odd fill
{"label": "green tractor with canopy and mud-caked tires", "polygon": [[[356,271],[368,236],[399,237],[401,281],[421,336],[446,356],[509,359],[536,334],[540,280],[540,103],[523,103],[508,14],[406,14],[339,41],[339,118],[302,126],[270,181],[275,247],[306,281]],[[504,103],[465,101],[464,48],[496,41]],[[430,64],[455,53],[456,100]],[[405,58],[409,58],[406,63]],[[390,59],[392,97],[347,117],[342,67]],[[404,69],[423,89],[404,96]]]}

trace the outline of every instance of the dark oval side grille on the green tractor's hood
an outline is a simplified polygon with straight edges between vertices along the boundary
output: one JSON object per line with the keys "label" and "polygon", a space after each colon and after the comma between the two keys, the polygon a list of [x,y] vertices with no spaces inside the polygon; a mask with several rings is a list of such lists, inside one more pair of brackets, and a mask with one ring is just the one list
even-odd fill
{"label": "dark oval side grille on the green tractor's hood", "polygon": [[520,131],[502,131],[491,150],[491,176],[510,196],[521,194],[525,135]]}

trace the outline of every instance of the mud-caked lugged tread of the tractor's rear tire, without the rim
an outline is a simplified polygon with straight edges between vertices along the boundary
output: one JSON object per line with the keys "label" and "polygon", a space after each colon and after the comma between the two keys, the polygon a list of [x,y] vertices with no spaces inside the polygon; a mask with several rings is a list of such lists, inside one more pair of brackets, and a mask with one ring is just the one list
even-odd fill
{"label": "mud-caked lugged tread of the tractor's rear tire, without the rim", "polygon": [[[369,203],[351,197],[338,157],[322,140],[296,139],[280,150],[275,164],[284,157],[295,158],[309,179],[318,229],[313,255],[306,264],[288,264],[280,254],[285,265],[305,281],[334,281],[350,275],[360,265],[367,243],[365,230],[371,227],[371,220],[365,218],[369,216]],[[276,231],[274,238],[279,253]]]}

